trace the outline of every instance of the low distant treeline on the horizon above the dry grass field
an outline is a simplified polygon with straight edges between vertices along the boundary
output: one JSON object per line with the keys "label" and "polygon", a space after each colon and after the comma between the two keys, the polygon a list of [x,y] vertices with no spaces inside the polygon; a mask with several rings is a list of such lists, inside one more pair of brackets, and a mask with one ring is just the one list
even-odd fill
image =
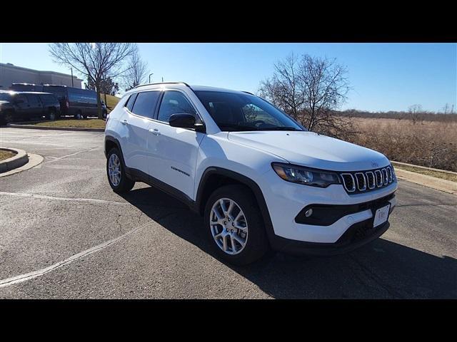
{"label": "low distant treeline on the horizon above the dry grass field", "polygon": [[349,118],[386,118],[398,120],[413,120],[413,121],[441,121],[441,122],[457,122],[457,113],[435,113],[423,111],[420,113],[411,112],[367,112],[363,110],[348,109],[336,110],[336,115],[346,116]]}

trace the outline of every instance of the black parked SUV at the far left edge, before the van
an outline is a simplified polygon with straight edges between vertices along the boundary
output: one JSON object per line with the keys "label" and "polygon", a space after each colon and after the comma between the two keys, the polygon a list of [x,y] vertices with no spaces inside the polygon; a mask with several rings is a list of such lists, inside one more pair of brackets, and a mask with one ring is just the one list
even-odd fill
{"label": "black parked SUV at the far left edge, before the van", "polygon": [[54,94],[0,90],[1,125],[43,117],[55,120],[59,115],[60,104]]}

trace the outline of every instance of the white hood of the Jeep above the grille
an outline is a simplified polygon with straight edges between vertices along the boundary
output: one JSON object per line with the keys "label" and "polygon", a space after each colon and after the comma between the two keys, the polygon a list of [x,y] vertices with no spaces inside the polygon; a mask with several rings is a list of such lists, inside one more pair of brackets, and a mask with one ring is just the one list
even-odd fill
{"label": "white hood of the Jeep above the grille", "polygon": [[371,170],[388,165],[381,153],[312,132],[231,132],[229,140],[273,153],[291,164],[332,171]]}

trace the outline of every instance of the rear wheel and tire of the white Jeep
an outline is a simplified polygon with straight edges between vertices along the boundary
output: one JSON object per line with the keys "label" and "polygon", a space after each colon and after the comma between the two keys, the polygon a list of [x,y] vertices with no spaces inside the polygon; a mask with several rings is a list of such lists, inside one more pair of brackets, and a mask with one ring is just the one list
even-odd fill
{"label": "rear wheel and tire of the white Jeep", "polygon": [[125,170],[124,160],[119,150],[116,147],[109,150],[106,157],[106,176],[114,192],[128,192],[134,187],[135,182],[127,177]]}

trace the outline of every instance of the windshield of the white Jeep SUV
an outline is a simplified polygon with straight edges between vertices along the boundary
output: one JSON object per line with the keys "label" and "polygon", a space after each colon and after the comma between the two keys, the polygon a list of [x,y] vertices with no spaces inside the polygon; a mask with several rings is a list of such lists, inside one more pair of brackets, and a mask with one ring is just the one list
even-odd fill
{"label": "windshield of the white Jeep SUV", "polygon": [[223,131],[305,130],[281,110],[256,96],[206,90],[195,93]]}

